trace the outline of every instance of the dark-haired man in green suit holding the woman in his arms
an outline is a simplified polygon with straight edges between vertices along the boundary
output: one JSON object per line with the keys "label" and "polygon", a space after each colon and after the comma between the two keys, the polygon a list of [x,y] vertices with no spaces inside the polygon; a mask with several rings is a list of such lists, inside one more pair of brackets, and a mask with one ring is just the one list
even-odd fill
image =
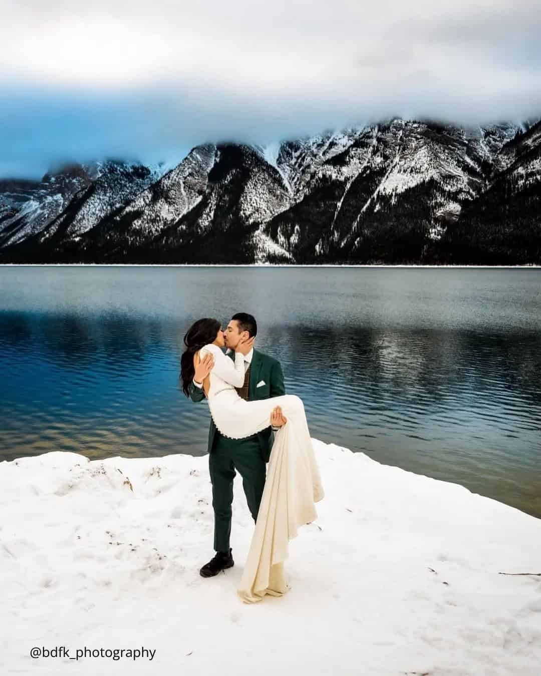
{"label": "dark-haired man in green suit holding the woman in his arms", "polygon": [[[251,314],[234,314],[224,340],[227,354],[234,360],[235,347],[241,339],[256,337],[256,319]],[[239,348],[243,352],[243,347]],[[195,369],[193,383],[188,389],[191,400],[200,402],[205,398],[203,381],[212,369],[212,355],[208,355]],[[237,392],[245,400],[269,399],[285,394],[283,373],[280,362],[262,352],[249,348],[244,354],[245,379],[243,387]],[[233,566],[233,556],[229,546],[231,536],[231,516],[233,503],[233,479],[235,469],[242,477],[242,485],[252,518],[256,521],[266,479],[266,463],[271,455],[273,434],[285,424],[285,418],[277,407],[269,420],[269,427],[252,437],[230,439],[224,437],[214,420],[210,418],[208,433],[208,466],[212,483],[212,507],[214,508],[214,550],[216,554],[199,573],[202,577],[212,577],[220,571]]]}

